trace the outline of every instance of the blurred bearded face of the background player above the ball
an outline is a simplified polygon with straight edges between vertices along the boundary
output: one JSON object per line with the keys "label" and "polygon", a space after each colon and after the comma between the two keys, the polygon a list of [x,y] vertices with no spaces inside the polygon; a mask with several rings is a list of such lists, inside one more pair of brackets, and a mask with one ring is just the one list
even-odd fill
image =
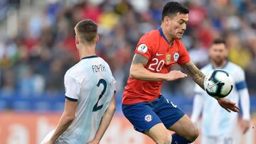
{"label": "blurred bearded face of the background player above the ball", "polygon": [[228,50],[225,48],[225,44],[213,44],[210,47],[210,60],[216,65],[222,65],[225,62],[225,58],[228,57]]}

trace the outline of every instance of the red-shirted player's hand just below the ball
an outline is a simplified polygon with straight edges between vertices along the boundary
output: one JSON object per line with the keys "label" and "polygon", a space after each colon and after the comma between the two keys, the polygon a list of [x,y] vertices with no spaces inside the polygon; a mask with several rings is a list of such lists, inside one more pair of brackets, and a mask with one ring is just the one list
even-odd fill
{"label": "red-shirted player's hand just below the ball", "polygon": [[220,99],[217,99],[217,101],[218,101],[218,104],[220,104],[220,106],[223,107],[223,109],[225,109],[229,113],[231,111],[234,111],[234,112],[239,111],[238,106],[235,106],[235,103],[233,101],[230,101],[230,99],[220,98]]}

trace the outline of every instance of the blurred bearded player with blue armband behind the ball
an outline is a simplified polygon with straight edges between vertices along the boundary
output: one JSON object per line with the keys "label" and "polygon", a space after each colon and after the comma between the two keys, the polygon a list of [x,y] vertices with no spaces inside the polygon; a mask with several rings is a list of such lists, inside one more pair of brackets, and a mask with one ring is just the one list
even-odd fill
{"label": "blurred bearded player with blue armband behind the ball", "polygon": [[[242,132],[245,133],[250,126],[250,99],[245,82],[245,72],[233,62],[228,62],[228,50],[225,41],[216,39],[210,47],[210,64],[201,70],[208,74],[213,69],[223,69],[230,74],[235,83],[233,91],[227,96],[228,99],[238,104],[240,99],[242,106]],[[218,106],[218,102],[211,99],[200,87],[195,88],[196,96],[193,102],[191,120],[198,121],[203,110],[202,118],[202,143],[208,144],[235,144],[234,132],[238,126],[238,113],[228,113]],[[214,113],[214,114],[213,114]]]}

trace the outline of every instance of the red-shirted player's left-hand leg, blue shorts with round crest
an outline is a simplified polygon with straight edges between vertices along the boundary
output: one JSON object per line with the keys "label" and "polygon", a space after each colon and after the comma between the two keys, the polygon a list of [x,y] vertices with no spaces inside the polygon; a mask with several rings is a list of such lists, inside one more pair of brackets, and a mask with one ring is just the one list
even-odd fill
{"label": "red-shirted player's left-hand leg, blue shorts with round crest", "polygon": [[134,129],[148,135],[156,143],[170,144],[171,135],[149,103],[122,105],[124,116]]}

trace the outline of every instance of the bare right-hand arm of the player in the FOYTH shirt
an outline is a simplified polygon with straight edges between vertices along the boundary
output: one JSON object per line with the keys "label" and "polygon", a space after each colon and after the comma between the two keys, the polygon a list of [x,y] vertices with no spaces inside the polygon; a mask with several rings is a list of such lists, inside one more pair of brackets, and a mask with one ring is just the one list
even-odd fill
{"label": "bare right-hand arm of the player in the FOYTH shirt", "polygon": [[105,113],[102,116],[102,120],[100,122],[99,128],[97,129],[95,138],[88,144],[100,143],[100,140],[102,139],[102,136],[107,130],[107,127],[110,125],[110,121],[112,120],[115,109],[116,109],[116,105],[115,105],[115,94],[114,94],[112,101],[110,102],[110,106],[107,108],[107,111],[105,111]]}

